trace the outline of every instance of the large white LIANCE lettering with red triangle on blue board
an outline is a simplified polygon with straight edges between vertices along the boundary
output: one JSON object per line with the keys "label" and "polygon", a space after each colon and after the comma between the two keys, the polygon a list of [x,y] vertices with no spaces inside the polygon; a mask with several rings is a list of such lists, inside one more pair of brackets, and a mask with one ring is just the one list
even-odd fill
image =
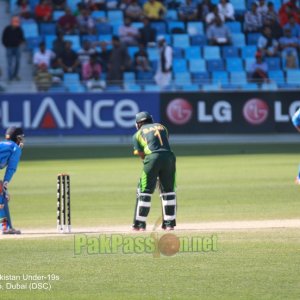
{"label": "large white LIANCE lettering with red triangle on blue board", "polygon": [[[78,105],[74,100],[57,103],[51,97],[44,98],[38,108],[32,108],[32,102],[25,100],[22,103],[22,119],[12,121],[13,115],[11,102],[1,102],[1,119],[4,128],[10,126],[36,128],[73,128],[75,123],[84,128],[131,128],[135,126],[135,115],[139,112],[137,103],[131,99],[115,101],[113,99],[101,99],[98,101],[83,100]],[[64,112],[62,112],[62,110]],[[105,111],[110,111],[110,118]],[[105,117],[104,117],[105,115]]]}

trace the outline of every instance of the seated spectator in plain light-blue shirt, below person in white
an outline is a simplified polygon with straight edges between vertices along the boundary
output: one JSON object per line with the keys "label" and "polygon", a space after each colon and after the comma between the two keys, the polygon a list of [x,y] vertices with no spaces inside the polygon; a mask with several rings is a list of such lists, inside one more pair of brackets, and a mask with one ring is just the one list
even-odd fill
{"label": "seated spectator in plain light-blue shirt, below person in white", "polygon": [[213,46],[231,45],[231,32],[219,17],[207,28],[206,37]]}

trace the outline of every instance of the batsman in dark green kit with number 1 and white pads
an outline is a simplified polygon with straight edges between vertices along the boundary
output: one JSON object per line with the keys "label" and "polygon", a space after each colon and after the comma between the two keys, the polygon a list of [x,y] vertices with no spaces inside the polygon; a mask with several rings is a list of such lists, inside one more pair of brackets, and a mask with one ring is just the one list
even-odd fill
{"label": "batsman in dark green kit with number 1 and white pads", "polygon": [[144,231],[151,207],[151,197],[159,180],[162,202],[162,229],[176,226],[176,158],[169,145],[168,130],[154,123],[148,112],[136,115],[137,132],[133,136],[134,154],[143,160],[143,171],[137,188],[133,230]]}

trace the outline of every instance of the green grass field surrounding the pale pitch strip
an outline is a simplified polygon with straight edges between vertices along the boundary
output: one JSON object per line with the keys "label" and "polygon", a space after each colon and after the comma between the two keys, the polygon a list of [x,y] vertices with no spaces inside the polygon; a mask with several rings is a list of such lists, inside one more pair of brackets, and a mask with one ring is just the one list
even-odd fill
{"label": "green grass field surrounding the pale pitch strip", "polygon": [[[300,187],[294,184],[299,145],[174,149],[179,224],[300,218]],[[74,228],[130,227],[141,168],[125,146],[88,153],[81,147],[25,148],[10,185],[15,226],[55,229],[56,176],[68,172]],[[150,224],[160,216],[157,193],[152,202]],[[160,258],[74,255],[73,236],[1,238],[0,299],[300,299],[299,228],[178,234],[215,234],[217,250]],[[1,274],[55,274],[59,280],[51,281],[51,291],[6,290]]]}

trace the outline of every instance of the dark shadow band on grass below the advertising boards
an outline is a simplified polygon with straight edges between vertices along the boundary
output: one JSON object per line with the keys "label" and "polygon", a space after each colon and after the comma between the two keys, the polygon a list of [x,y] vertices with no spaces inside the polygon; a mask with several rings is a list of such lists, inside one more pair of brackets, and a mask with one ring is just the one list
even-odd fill
{"label": "dark shadow band on grass below the advertising boards", "polygon": [[[299,144],[214,144],[214,145],[176,145],[176,156],[204,155],[243,155],[243,154],[287,154],[300,156]],[[30,147],[24,149],[22,160],[69,160],[93,158],[132,157],[130,146],[64,146],[64,147]]]}

